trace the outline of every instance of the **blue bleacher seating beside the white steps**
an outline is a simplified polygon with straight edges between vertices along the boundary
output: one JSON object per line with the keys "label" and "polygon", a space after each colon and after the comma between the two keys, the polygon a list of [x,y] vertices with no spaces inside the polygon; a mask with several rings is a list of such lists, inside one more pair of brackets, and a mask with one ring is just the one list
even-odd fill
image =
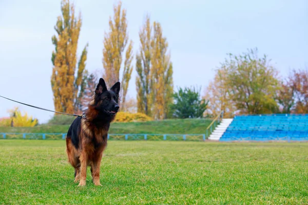
{"label": "blue bleacher seating beside the white steps", "polygon": [[235,116],[220,141],[308,140],[308,114]]}

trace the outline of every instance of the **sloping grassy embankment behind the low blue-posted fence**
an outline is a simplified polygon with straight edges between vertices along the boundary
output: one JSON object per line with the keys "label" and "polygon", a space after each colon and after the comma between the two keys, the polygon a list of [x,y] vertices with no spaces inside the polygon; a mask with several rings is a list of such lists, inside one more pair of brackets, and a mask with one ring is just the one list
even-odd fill
{"label": "sloping grassy embankment behind the low blue-posted fence", "polygon": [[[147,122],[113,122],[110,134],[205,134],[209,119],[169,119]],[[67,133],[69,125],[41,125],[33,128],[5,128],[5,133]]]}

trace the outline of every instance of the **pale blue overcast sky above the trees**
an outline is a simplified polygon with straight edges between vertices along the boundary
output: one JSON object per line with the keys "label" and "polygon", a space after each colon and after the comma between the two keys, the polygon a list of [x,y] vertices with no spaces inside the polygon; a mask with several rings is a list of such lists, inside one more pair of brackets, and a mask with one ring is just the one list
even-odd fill
{"label": "pale blue overcast sky above the trees", "polygon": [[[290,69],[308,68],[307,0],[124,0],[128,32],[134,53],[139,49],[138,32],[146,14],[158,21],[167,38],[174,69],[174,86],[204,88],[214,78],[214,69],[227,53],[240,54],[258,48],[282,77]],[[86,68],[103,71],[103,38],[117,1],[75,0],[83,17],[78,56],[89,43]],[[60,0],[0,0],[0,95],[54,110],[50,85],[51,36]],[[128,96],[136,98],[133,70]],[[0,117],[18,106],[47,122],[53,113],[0,98]]]}

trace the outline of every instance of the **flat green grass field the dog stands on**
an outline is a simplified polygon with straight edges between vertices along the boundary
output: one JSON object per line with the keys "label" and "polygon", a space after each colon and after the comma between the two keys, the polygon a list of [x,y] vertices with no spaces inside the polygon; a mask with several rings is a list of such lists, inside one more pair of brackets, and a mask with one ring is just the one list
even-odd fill
{"label": "flat green grass field the dog stands on", "polygon": [[64,140],[0,140],[0,204],[307,204],[308,144],[109,141],[102,187]]}

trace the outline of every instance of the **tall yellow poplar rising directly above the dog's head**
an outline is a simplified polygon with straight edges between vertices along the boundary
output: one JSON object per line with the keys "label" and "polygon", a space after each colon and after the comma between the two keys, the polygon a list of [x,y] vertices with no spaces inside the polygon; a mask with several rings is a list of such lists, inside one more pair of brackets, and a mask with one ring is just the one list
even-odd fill
{"label": "tall yellow poplar rising directly above the dog's head", "polygon": [[[104,78],[107,86],[112,86],[120,81],[120,69],[122,67],[121,103],[125,104],[128,83],[132,72],[132,41],[128,43],[126,10],[122,9],[122,3],[113,7],[113,19],[109,18],[109,32],[104,36],[103,67]],[[124,55],[124,50],[125,55]],[[124,56],[123,56],[124,55]],[[124,58],[124,65],[122,61]]]}

